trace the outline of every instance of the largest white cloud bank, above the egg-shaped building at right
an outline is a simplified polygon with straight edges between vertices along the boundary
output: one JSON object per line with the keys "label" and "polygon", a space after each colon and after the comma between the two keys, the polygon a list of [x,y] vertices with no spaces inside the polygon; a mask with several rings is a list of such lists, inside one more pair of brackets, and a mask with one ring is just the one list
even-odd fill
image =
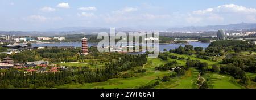
{"label": "largest white cloud bank, above the egg-shaped building at right", "polygon": [[255,22],[256,9],[244,6],[226,4],[205,10],[196,10],[188,14],[188,23],[241,23]]}

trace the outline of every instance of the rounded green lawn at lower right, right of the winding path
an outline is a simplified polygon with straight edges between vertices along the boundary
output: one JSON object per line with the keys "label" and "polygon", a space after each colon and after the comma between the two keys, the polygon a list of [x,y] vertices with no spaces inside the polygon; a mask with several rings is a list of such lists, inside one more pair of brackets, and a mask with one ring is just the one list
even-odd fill
{"label": "rounded green lawn at lower right, right of the winding path", "polygon": [[237,83],[236,79],[229,75],[220,75],[218,73],[207,73],[205,79],[209,79],[209,84],[213,89],[242,89],[245,88]]}

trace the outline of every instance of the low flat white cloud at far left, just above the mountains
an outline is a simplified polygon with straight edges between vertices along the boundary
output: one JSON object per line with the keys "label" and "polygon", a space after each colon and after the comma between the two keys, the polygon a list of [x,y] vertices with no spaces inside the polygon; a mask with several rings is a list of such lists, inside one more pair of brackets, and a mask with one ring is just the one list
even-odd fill
{"label": "low flat white cloud at far left, just above the mountains", "polygon": [[62,20],[62,18],[60,17],[47,18],[42,15],[31,15],[31,16],[28,16],[27,18],[24,18],[24,20],[32,21],[32,22],[46,22],[46,21],[58,21],[58,20]]}

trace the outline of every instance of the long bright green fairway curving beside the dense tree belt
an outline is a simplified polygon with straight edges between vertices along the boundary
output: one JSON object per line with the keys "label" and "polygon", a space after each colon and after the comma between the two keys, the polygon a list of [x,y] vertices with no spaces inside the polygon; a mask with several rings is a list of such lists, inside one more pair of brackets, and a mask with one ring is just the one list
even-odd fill
{"label": "long bright green fairway curving beside the dense tree belt", "polygon": [[134,77],[127,79],[116,78],[110,79],[104,82],[94,82],[89,84],[67,84],[63,86],[56,86],[56,88],[82,88],[82,89],[92,89],[92,88],[104,88],[104,89],[114,89],[114,88],[139,88],[154,82],[158,77],[163,77],[164,75],[170,75],[170,71],[155,71],[155,66],[167,63],[158,58],[148,59],[143,68],[147,70],[146,73],[136,73]]}

